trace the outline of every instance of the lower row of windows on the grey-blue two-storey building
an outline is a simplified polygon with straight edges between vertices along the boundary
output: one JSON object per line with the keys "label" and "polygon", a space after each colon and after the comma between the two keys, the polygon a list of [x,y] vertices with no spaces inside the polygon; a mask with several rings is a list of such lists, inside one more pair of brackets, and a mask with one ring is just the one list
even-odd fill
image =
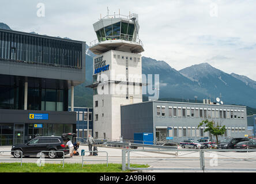
{"label": "lower row of windows on the grey-blue two-storey building", "polygon": [[[231,133],[244,133],[245,128],[243,127],[232,127],[226,128],[224,136],[231,136]],[[209,132],[204,132],[204,128],[195,128],[195,127],[174,127],[173,131],[169,131],[170,137],[208,137]]]}

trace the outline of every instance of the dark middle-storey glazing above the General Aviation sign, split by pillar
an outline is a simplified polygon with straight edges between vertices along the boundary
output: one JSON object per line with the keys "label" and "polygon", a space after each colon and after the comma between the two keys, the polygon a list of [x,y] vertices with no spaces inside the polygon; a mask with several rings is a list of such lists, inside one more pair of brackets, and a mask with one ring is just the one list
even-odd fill
{"label": "dark middle-storey glazing above the General Aviation sign, split by pillar", "polygon": [[[0,75],[0,78],[0,109],[24,109],[25,78],[9,75]],[[67,111],[67,93],[64,81],[28,78],[27,108]]]}

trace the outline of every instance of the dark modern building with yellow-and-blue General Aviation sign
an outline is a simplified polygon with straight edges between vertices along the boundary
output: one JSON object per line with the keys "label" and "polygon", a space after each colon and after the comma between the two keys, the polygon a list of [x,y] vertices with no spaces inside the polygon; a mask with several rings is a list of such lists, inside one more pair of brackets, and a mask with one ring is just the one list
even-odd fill
{"label": "dark modern building with yellow-and-blue General Aviation sign", "polygon": [[0,29],[0,145],[76,132],[85,42]]}

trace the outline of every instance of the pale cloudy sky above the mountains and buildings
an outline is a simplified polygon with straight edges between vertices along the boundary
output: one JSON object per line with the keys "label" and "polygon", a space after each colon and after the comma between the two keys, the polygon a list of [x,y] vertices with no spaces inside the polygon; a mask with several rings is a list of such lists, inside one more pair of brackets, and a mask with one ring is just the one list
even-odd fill
{"label": "pale cloudy sky above the mountains and buildings", "polygon": [[[44,17],[37,16],[43,3]],[[176,70],[207,62],[256,81],[256,1],[254,0],[1,0],[0,22],[13,30],[86,41],[100,14],[137,13],[142,56],[164,60]]]}

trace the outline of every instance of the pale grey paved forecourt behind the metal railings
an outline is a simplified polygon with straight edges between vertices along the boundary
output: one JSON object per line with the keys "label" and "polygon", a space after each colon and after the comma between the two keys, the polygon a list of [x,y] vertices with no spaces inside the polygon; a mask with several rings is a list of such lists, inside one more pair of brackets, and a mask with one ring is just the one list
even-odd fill
{"label": "pale grey paved forecourt behind the metal railings", "polygon": [[[10,151],[11,147],[0,147],[0,151]],[[146,148],[144,148],[146,150]],[[81,150],[88,151],[88,147],[81,145]],[[199,168],[199,152],[198,150],[189,149],[189,151],[183,151],[181,148],[179,152],[176,151],[160,151],[158,149],[150,148],[150,152],[146,152],[142,148],[130,152],[131,164],[148,164],[150,168],[156,170],[148,170],[144,172],[202,172],[193,171],[193,168]],[[147,149],[148,150],[148,149]],[[187,149],[186,149],[187,150]],[[108,163],[122,163],[122,149],[114,147],[98,147],[98,156],[88,156],[89,152],[85,153],[84,164],[106,164],[106,152],[108,153]],[[101,152],[103,151],[103,152]],[[10,155],[10,152],[2,152],[0,155],[1,162],[20,162]],[[10,160],[2,160],[10,159]],[[127,159],[127,158],[126,158]],[[229,169],[225,172],[236,172],[236,169],[255,169],[256,168],[256,152],[210,152],[204,153],[205,167],[213,169]],[[22,158],[22,163],[36,163],[39,158],[31,156],[29,158]],[[46,163],[61,163],[59,159],[45,158]],[[99,161],[100,160],[100,161]],[[104,160],[104,161],[103,161]],[[69,158],[69,155],[65,156],[65,163],[82,163],[82,156],[73,156]],[[234,168],[234,170],[232,170]],[[188,170],[186,170],[188,169]],[[190,170],[192,169],[192,170]],[[214,171],[205,171],[214,172]],[[240,171],[239,171],[240,172]]]}

